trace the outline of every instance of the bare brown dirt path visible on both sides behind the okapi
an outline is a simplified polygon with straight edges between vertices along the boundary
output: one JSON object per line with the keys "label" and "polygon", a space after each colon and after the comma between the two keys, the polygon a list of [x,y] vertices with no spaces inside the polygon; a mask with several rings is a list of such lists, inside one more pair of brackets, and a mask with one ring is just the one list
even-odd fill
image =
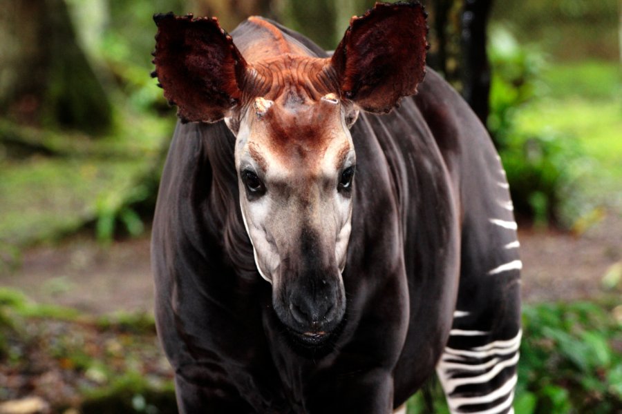
{"label": "bare brown dirt path visible on both sides behind the okapi", "polygon": [[[577,237],[556,230],[519,230],[526,302],[589,299],[601,279],[622,266],[622,217],[605,215]],[[88,313],[147,311],[153,307],[149,236],[109,247],[88,237],[26,250],[21,267],[0,275],[0,286],[23,290],[41,303]]]}

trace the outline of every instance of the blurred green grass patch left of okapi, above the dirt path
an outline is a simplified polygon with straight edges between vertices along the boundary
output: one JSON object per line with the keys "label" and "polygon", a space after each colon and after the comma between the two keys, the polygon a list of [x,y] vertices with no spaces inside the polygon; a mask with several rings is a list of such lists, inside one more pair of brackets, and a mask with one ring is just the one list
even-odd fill
{"label": "blurred green grass patch left of okapi, above the dirt path", "polygon": [[22,246],[76,230],[93,219],[93,201],[129,185],[141,167],[129,160],[46,157],[10,165],[0,182],[0,234]]}

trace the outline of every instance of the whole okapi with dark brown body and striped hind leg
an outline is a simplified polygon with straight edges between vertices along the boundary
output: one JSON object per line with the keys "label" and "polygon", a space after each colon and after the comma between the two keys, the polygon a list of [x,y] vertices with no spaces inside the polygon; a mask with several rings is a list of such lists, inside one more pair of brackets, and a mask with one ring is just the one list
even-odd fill
{"label": "whole okapi with dark brown body and striped hind leg", "polygon": [[512,413],[508,184],[426,73],[422,6],[377,3],[332,55],[261,17],[154,19],[181,119],[152,239],[180,411],[390,413],[436,371],[453,413]]}

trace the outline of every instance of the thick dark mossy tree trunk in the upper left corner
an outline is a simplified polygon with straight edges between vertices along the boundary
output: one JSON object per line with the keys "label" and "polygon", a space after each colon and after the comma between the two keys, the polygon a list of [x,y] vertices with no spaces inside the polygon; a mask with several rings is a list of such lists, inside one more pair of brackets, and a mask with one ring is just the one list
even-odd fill
{"label": "thick dark mossy tree trunk in the upper left corner", "polygon": [[88,133],[111,126],[102,83],[79,48],[64,0],[3,0],[0,116]]}

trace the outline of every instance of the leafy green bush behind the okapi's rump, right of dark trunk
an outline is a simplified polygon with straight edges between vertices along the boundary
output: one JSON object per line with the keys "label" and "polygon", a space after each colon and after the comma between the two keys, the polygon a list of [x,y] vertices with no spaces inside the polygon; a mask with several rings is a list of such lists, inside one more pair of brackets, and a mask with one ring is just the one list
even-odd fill
{"label": "leafy green bush behind the okapi's rump, right of dark trunk", "polygon": [[520,46],[502,26],[491,30],[489,55],[493,78],[488,126],[507,172],[516,213],[536,224],[568,226],[577,213],[564,204],[576,191],[583,148],[552,128],[527,133],[517,122],[520,111],[546,90],[541,81],[543,56]]}

